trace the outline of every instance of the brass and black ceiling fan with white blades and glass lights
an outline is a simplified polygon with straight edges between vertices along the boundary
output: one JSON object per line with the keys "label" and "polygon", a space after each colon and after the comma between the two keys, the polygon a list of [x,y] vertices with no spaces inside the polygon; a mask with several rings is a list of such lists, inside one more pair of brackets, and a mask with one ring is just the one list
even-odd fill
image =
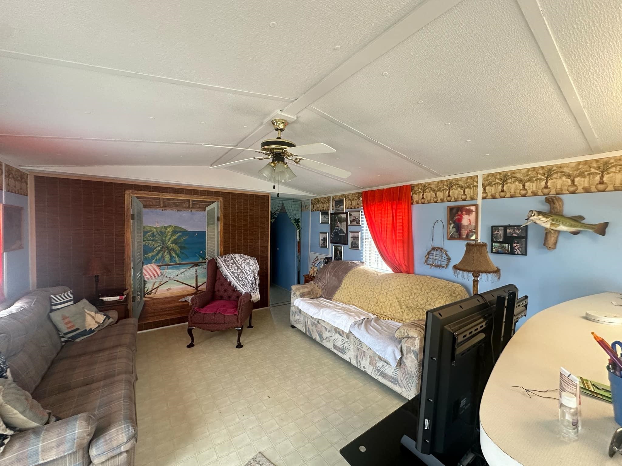
{"label": "brass and black ceiling fan with white blades and glass lights", "polygon": [[[309,158],[300,157],[301,155],[313,155],[316,153],[332,153],[337,152],[329,145],[322,142],[316,142],[315,144],[295,145],[292,141],[281,138],[281,132],[285,130],[287,126],[287,120],[276,118],[272,120],[272,126],[278,133],[274,139],[266,139],[261,142],[261,150],[249,149],[243,147],[231,147],[228,145],[215,145],[215,144],[202,144],[207,147],[224,147],[235,148],[239,150],[253,150],[262,154],[262,157],[244,158],[243,160],[236,160],[235,162],[221,163],[220,165],[214,165],[209,168],[224,168],[231,167],[232,165],[238,165],[238,163],[246,163],[250,160],[268,160],[265,167],[259,170],[259,175],[266,178],[268,181],[272,181],[275,185],[278,183],[286,183],[293,180],[296,175],[287,162],[294,162],[296,165],[302,165],[302,167],[312,168],[312,170],[323,171],[329,175],[338,176],[339,178],[348,178],[351,175],[350,171],[342,170],[341,168],[327,165],[326,163],[317,162],[317,160],[310,160]],[[273,186],[276,189],[276,186]],[[277,194],[278,195],[278,194]]]}

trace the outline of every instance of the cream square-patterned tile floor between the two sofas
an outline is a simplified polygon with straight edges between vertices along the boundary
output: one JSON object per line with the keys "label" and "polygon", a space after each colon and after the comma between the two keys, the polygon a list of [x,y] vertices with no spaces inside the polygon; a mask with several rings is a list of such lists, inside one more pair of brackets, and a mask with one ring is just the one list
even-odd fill
{"label": "cream square-patterned tile floor between the two sofas", "polygon": [[253,329],[138,336],[136,466],[347,465],[339,449],[406,401],[289,326],[289,304]]}

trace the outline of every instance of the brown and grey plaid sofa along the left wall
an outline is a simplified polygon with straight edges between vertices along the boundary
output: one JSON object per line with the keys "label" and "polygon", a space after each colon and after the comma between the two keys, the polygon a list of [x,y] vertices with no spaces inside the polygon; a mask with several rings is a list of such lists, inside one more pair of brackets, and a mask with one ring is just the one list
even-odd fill
{"label": "brown and grey plaid sofa along the left wall", "polygon": [[[42,288],[0,308],[0,352],[13,379],[62,418],[14,434],[0,465],[132,466],[137,320],[62,345],[48,314],[50,295],[65,291]],[[109,315],[116,321],[116,313]]]}

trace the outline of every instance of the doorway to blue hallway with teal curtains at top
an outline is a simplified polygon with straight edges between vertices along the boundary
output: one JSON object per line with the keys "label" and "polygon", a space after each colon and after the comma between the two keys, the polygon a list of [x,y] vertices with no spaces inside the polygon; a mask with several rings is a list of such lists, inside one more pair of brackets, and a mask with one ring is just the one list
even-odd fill
{"label": "doorway to blue hallway with teal curtains at top", "polygon": [[301,208],[294,199],[271,199],[271,306],[289,303],[292,285],[299,283]]}

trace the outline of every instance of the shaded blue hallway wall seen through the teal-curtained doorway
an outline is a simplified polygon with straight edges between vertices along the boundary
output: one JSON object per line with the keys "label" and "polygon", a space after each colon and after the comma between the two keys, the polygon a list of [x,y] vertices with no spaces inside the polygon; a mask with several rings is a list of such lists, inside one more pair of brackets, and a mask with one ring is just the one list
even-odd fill
{"label": "shaded blue hallway wall seen through the teal-curtained doorway", "polygon": [[289,290],[297,283],[296,227],[285,212],[281,212],[272,222],[271,234],[271,283]]}

